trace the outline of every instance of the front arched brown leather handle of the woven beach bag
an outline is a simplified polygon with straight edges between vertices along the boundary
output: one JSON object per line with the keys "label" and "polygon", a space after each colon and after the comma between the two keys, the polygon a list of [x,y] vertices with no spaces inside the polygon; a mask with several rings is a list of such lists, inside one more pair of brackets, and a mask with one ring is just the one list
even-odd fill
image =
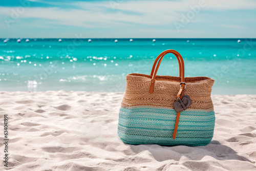
{"label": "front arched brown leather handle of the woven beach bag", "polygon": [[[152,74],[152,71],[151,71],[151,75],[152,75],[151,86],[150,86],[150,93],[151,94],[153,93],[153,90],[154,90],[155,78],[156,78],[157,71],[159,69],[160,63],[161,63],[164,55],[166,55],[167,53],[173,53],[177,57],[178,62],[179,62],[179,68],[180,68],[181,82],[185,82],[185,77],[184,77],[184,75],[185,75],[185,73],[184,73],[184,61],[183,61],[183,58],[182,58],[181,54],[179,52],[177,52],[176,50],[173,50],[173,49],[165,50],[165,51],[163,51],[162,53],[160,53],[157,56],[157,58],[156,58],[156,60],[154,62],[153,68],[152,68],[152,71],[154,69],[153,74]],[[160,58],[160,60],[159,60],[159,58]],[[158,64],[157,64],[157,67],[155,68],[157,61],[158,61]],[[184,84],[182,86],[184,87]],[[177,97],[178,97],[178,95],[177,95]]]}

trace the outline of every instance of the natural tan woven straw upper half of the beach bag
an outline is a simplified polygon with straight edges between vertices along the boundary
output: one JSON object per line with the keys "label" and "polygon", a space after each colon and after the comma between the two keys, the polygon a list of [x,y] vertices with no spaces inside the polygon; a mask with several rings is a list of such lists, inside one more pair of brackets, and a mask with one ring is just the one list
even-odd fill
{"label": "natural tan woven straw upper half of the beach bag", "polygon": [[[159,56],[162,57],[165,54],[160,54]],[[161,59],[162,58],[160,58],[160,62]],[[156,75],[154,83],[154,93],[151,94],[150,88],[153,77],[152,75],[137,73],[127,74],[126,90],[121,105],[126,107],[136,105],[153,105],[174,109],[173,103],[177,101],[176,95],[180,89],[181,74],[180,77]],[[214,110],[214,105],[212,104],[210,98],[211,88],[214,84],[214,79],[204,76],[184,77],[184,81],[186,84],[185,94],[193,99],[193,104],[189,106],[188,110]]]}

